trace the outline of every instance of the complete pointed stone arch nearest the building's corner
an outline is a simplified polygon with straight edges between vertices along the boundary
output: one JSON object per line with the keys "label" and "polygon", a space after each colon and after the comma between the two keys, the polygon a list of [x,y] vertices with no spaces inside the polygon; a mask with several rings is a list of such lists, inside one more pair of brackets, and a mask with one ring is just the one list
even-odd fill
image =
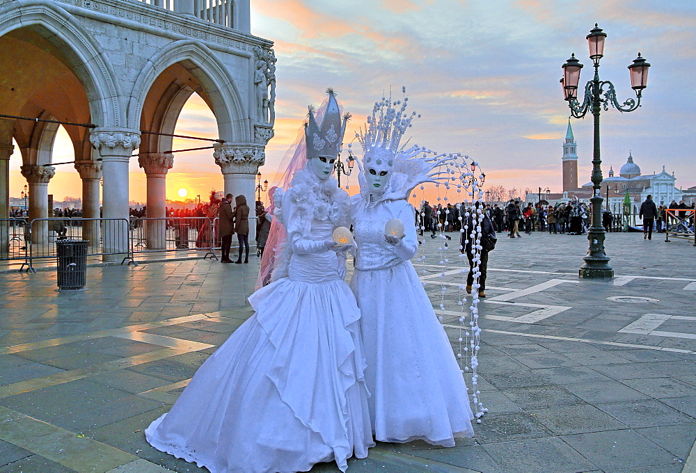
{"label": "complete pointed stone arch nearest the building's corner", "polygon": [[133,87],[128,104],[129,127],[139,127],[145,98],[152,84],[159,74],[176,63],[185,67],[203,86],[218,124],[219,137],[229,142],[248,141],[250,133],[244,126],[246,114],[237,86],[213,52],[195,40],[175,41],[150,58]]}

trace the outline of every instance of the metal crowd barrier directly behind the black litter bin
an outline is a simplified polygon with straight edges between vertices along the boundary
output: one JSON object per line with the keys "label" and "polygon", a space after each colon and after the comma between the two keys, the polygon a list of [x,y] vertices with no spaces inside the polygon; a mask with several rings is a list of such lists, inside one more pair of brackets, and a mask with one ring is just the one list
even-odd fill
{"label": "metal crowd barrier directly behind the black litter bin", "polygon": [[56,241],[88,241],[87,256],[118,255],[136,264],[129,245],[127,218],[34,218],[26,226],[25,261],[19,271],[34,272],[35,259],[56,258]]}

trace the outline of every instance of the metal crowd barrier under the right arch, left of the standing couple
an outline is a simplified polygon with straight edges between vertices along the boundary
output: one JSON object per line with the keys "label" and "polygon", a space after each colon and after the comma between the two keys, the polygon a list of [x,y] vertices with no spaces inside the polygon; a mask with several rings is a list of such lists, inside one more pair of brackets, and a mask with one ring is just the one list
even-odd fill
{"label": "metal crowd barrier under the right arch, left of the standing couple", "polygon": [[205,250],[203,259],[217,259],[216,232],[208,217],[131,218],[130,241],[134,254]]}

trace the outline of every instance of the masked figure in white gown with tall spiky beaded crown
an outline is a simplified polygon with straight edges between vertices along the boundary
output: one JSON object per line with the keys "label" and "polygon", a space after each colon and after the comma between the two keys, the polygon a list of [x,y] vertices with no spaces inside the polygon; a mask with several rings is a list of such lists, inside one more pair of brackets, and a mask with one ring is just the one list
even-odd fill
{"label": "masked figure in white gown with tall spiky beaded crown", "polygon": [[443,161],[420,157],[418,147],[399,150],[413,119],[405,114],[407,100],[397,108],[382,99],[358,135],[363,164],[361,192],[351,198],[358,244],[351,289],[362,313],[375,439],[452,447],[454,438],[473,435],[473,415],[452,346],[409,261],[418,237],[407,201],[414,186],[437,179]]}

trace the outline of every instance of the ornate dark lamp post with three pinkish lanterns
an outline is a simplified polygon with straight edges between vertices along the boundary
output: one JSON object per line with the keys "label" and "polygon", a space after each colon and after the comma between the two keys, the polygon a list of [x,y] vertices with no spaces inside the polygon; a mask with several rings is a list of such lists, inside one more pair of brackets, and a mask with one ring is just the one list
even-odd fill
{"label": "ornate dark lamp post with three pinkish lanterns", "polygon": [[583,65],[576,59],[575,54],[563,65],[563,78],[561,85],[564,98],[568,102],[571,115],[575,118],[583,118],[588,111],[594,117],[594,153],[592,159],[592,225],[587,232],[587,239],[590,240],[590,249],[583,258],[585,264],[580,266],[581,278],[613,278],[614,270],[609,266],[609,257],[604,248],[604,227],[602,226],[602,170],[599,147],[599,114],[602,107],[605,111],[609,109],[609,104],[622,112],[632,112],[640,106],[640,96],[646,87],[648,77],[648,67],[650,65],[638,53],[638,58],[628,66],[631,75],[631,88],[635,90],[637,100],[629,98],[623,104],[619,104],[616,99],[614,85],[610,81],[599,80],[599,60],[604,56],[604,40],[606,33],[596,24],[594,29],[587,35],[587,42],[590,45],[590,59],[594,64],[594,79],[587,82],[585,86],[585,96],[583,103],[578,102],[578,82],[580,81],[580,69]]}

